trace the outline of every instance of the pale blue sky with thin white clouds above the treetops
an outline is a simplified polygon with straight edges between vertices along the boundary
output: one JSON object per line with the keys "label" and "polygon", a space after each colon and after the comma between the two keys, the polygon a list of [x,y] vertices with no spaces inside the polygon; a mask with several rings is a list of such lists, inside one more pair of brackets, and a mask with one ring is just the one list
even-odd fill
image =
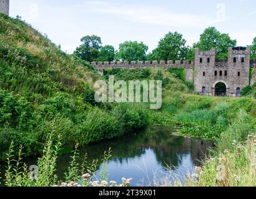
{"label": "pale blue sky with thin white clouds above the treetops", "polygon": [[209,26],[229,33],[238,45],[256,37],[255,0],[10,0],[10,15],[22,16],[69,53],[92,34],[116,49],[125,40],[142,41],[149,51],[169,31],[183,34],[187,45]]}

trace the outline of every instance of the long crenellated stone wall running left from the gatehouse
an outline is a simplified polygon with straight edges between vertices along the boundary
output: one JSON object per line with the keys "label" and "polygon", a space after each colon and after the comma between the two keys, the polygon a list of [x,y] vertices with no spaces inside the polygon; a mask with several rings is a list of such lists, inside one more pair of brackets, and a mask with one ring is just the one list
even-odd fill
{"label": "long crenellated stone wall running left from the gatehouse", "polygon": [[169,60],[169,61],[132,61],[132,62],[91,62],[91,65],[97,69],[104,68],[194,68],[194,61],[189,60]]}

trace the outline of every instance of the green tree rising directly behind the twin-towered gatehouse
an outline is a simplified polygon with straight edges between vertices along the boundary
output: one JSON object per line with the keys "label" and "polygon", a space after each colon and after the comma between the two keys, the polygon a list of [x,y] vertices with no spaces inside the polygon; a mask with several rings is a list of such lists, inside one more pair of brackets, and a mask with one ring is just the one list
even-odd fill
{"label": "green tree rising directly behind the twin-towered gatehouse", "polygon": [[230,39],[229,34],[220,33],[215,27],[209,27],[204,30],[203,34],[200,35],[200,40],[194,47],[200,50],[210,50],[214,47],[217,48],[217,58],[227,58],[229,47],[235,47],[237,40]]}

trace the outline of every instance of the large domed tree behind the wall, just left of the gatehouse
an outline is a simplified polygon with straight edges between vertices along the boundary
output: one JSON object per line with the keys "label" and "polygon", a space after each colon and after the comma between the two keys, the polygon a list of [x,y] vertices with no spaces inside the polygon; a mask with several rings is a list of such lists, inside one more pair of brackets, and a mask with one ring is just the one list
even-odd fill
{"label": "large domed tree behind the wall, just left of the gatehouse", "polygon": [[169,32],[160,39],[159,45],[149,54],[148,60],[184,60],[188,47],[186,40],[178,32]]}

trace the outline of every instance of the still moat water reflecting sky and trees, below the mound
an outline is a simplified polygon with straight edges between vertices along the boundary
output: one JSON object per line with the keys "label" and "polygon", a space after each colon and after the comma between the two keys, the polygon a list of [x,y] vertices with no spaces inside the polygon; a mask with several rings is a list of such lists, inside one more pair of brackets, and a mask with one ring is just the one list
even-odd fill
{"label": "still moat water reflecting sky and trees, below the mound", "polygon": [[[83,147],[81,157],[87,154],[87,162],[99,159],[97,177],[102,170],[102,155],[111,147],[108,164],[109,180],[121,183],[121,178],[133,178],[132,186],[153,186],[160,178],[170,182],[179,179],[184,182],[187,173],[200,166],[207,149],[213,142],[174,136],[170,127],[149,126],[136,134],[118,137]],[[60,155],[57,175],[63,177],[71,154]],[[27,165],[36,164],[36,158],[24,160]],[[4,165],[1,166],[1,172]],[[1,179],[2,180],[2,179]]]}

